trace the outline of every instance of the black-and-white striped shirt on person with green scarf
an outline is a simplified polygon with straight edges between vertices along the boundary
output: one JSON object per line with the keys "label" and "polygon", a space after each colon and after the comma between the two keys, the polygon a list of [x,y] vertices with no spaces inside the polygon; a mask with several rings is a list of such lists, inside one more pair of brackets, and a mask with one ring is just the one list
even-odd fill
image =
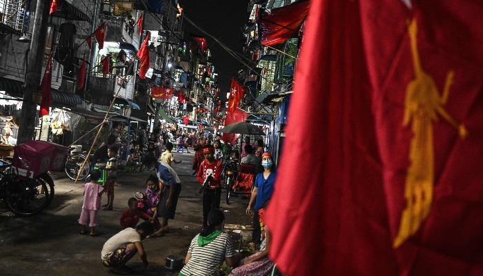
{"label": "black-and-white striped shirt on person with green scarf", "polygon": [[201,247],[198,245],[198,235],[191,241],[188,253],[191,258],[181,273],[192,276],[217,276],[216,268],[223,264],[225,258],[233,257],[233,242],[225,233],[220,233],[213,242]]}

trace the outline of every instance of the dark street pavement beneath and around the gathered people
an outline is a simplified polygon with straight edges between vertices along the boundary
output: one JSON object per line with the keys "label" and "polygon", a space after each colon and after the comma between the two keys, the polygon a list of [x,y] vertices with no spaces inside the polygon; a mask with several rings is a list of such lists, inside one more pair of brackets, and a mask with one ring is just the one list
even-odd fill
{"label": "dark street pavement beneath and around the gathered people", "polygon": [[[135,269],[132,275],[178,275],[178,271],[165,267],[168,255],[186,256],[191,239],[201,230],[203,219],[199,183],[192,175],[193,152],[173,152],[180,164],[173,164],[181,179],[175,219],[169,221],[170,233],[144,241],[148,255],[148,268],[144,268],[139,255],[128,266]],[[63,172],[52,173],[55,181],[55,198],[48,209],[32,217],[14,216],[0,202],[0,275],[115,275],[101,264],[103,244],[121,230],[119,218],[128,208],[128,199],[136,191],[146,190],[146,179],[154,172],[118,172],[115,187],[114,210],[99,211],[100,236],[79,235],[77,221],[83,203],[83,182],[70,181]],[[233,198],[230,204],[221,197],[221,208],[226,224],[250,225],[251,217],[244,215],[248,200]],[[102,198],[106,203],[105,195]]]}

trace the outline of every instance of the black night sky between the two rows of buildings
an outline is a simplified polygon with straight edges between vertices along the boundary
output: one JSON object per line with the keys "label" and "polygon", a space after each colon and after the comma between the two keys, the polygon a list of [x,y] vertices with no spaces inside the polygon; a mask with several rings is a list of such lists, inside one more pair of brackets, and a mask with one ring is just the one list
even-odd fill
{"label": "black night sky between the two rows of buildings", "polygon": [[[213,35],[231,50],[242,53],[242,27],[248,22],[248,1],[246,0],[179,0],[186,17],[199,28]],[[240,62],[228,54],[213,39],[184,21],[186,36],[190,33],[205,37],[218,73],[219,96],[224,99],[230,90],[231,77],[235,77]]]}

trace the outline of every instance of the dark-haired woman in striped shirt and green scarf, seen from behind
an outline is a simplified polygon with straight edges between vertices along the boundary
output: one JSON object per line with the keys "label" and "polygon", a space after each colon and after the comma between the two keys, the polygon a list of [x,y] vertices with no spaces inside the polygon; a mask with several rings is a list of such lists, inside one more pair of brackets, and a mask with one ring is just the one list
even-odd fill
{"label": "dark-haired woman in striped shirt and green scarf, seen from behind", "polygon": [[179,276],[206,275],[218,276],[217,268],[226,261],[227,266],[234,266],[241,259],[235,254],[230,236],[221,233],[225,216],[219,209],[212,209],[208,213],[208,226],[191,241],[185,266]]}

